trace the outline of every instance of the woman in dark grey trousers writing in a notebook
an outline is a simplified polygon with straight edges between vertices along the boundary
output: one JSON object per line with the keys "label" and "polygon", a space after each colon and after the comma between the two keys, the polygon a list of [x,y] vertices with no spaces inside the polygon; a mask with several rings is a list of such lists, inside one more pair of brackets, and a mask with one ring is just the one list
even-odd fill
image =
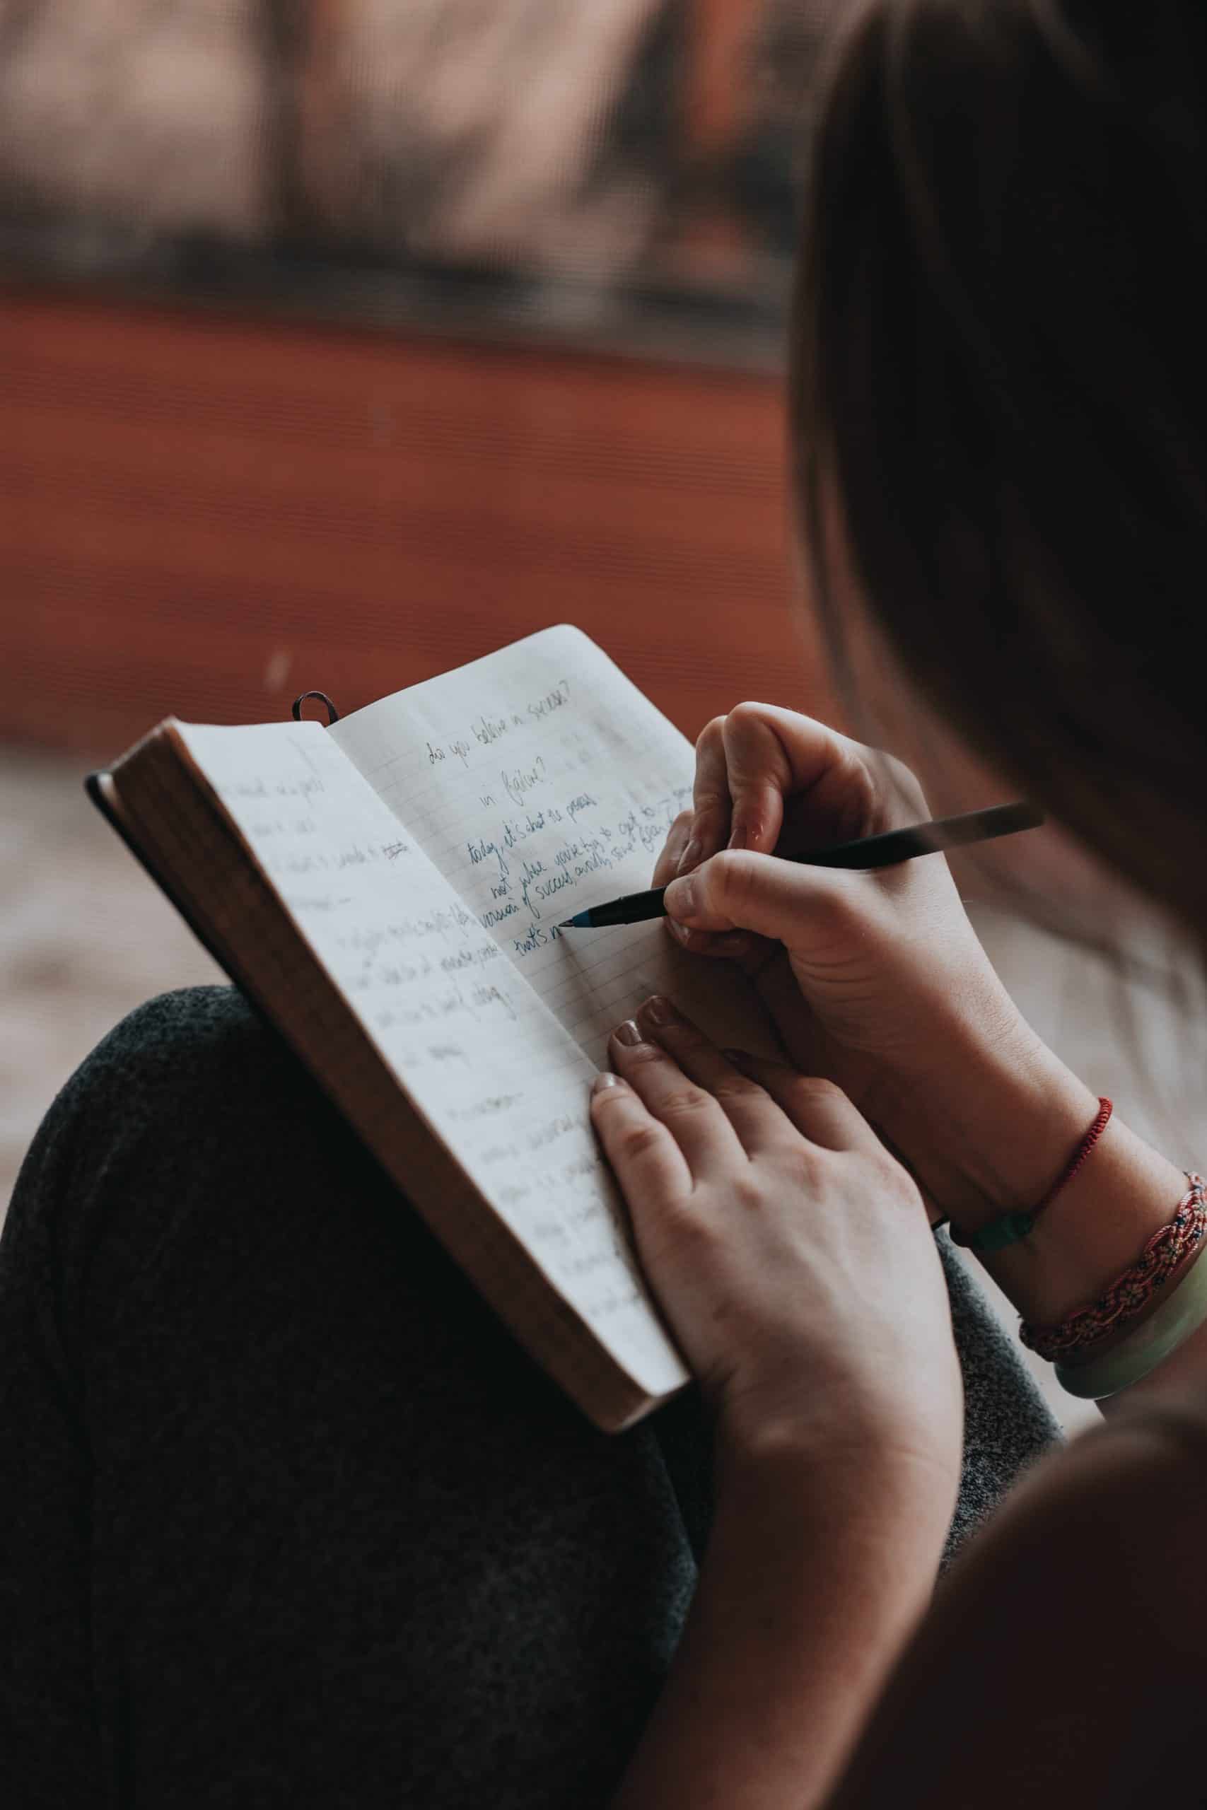
{"label": "woman in dark grey trousers writing in a notebook", "polygon": [[[1196,0],[870,0],[820,109],[793,375],[838,652],[898,662],[1200,936],[1205,130]],[[700,1385],[617,1441],[237,996],[107,1039],[4,1234],[9,1801],[1198,1801],[1207,1332],[1135,1356],[1196,1243],[1167,1298],[1091,1316],[1068,1374],[1135,1379],[936,1589],[1051,1428],[930,1218],[993,1245],[1035,1215],[984,1262],[1051,1345],[1207,1209],[1019,1019],[941,862],[769,860],[923,813],[803,717],[700,738],[659,880],[791,1061],[664,1001],[617,1030],[592,1111]]]}

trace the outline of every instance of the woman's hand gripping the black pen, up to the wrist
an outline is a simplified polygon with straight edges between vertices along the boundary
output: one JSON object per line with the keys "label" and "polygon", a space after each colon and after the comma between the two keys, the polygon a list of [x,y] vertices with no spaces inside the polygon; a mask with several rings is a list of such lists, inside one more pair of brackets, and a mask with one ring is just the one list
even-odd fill
{"label": "woman's hand gripping the black pen, up to the wrist", "polygon": [[1093,1095],[1015,1008],[943,856],[870,872],[771,860],[928,814],[890,757],[811,717],[738,704],[697,742],[693,809],[675,820],[653,885],[668,885],[682,947],[737,959],[794,1066],[834,1081],[952,1211],[981,1187],[965,1169],[984,1158],[986,1186],[995,1171],[983,1126],[1026,1137],[1019,1113],[1033,1104],[1044,1175],[1048,1148],[1093,1117]]}

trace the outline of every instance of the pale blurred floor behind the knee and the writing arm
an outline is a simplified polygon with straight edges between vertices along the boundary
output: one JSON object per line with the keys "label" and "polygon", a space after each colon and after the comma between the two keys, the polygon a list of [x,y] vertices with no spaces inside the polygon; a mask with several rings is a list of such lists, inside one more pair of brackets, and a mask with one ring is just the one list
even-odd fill
{"label": "pale blurred floor behind the knee and the writing arm", "polygon": [[[92,1044],[150,994],[221,976],[87,802],[78,760],[0,749],[0,849],[2,1216],[40,1115]],[[1207,1166],[1207,1010],[1185,1017],[1093,956],[974,916],[1041,1035],[1173,1160]],[[972,1267],[1013,1334],[1017,1314]],[[1098,1419],[1031,1365],[1069,1432]]]}

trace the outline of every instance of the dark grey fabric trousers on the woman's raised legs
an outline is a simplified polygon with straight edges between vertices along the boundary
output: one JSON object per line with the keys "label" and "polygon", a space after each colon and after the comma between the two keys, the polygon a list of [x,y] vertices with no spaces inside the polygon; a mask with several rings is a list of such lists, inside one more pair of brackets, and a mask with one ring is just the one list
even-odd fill
{"label": "dark grey fabric trousers on the woman's raised legs", "polygon": [[[948,1555],[1059,1439],[939,1236]],[[0,1794],[606,1805],[709,1519],[695,1392],[597,1434],[232,988],[83,1062],[0,1240]]]}

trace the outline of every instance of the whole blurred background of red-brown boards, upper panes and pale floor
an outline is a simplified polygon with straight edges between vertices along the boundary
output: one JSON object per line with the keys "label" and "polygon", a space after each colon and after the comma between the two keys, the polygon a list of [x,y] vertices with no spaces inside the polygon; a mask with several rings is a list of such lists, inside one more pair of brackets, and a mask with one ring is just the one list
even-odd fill
{"label": "whole blurred background of red-brown boards, upper panes and pale floor", "polygon": [[[347,711],[556,621],[689,737],[834,717],[780,376],[840,7],[0,0],[0,1215],[90,1044],[214,977],[80,787],[161,717]],[[1133,986],[1120,1039],[1095,957],[974,909],[1202,1166],[1185,1021]]]}

